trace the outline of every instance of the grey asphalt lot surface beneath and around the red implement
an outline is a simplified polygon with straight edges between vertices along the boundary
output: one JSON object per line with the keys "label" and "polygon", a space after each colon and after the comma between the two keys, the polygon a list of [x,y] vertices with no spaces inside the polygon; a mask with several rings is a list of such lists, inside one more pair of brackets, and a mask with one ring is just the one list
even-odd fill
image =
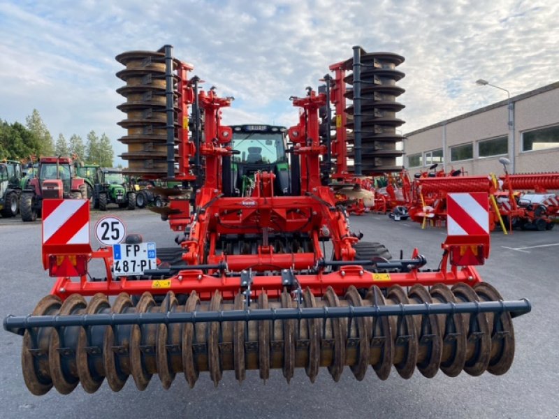
{"label": "grey asphalt lot surface beneath and around the red implement", "polygon": [[[129,233],[145,241],[173,246],[175,233],[157,214],[147,210],[110,211],[121,217]],[[94,221],[105,213],[92,214]],[[426,228],[411,221],[392,221],[385,215],[351,216],[351,228],[363,240],[383,242],[395,257],[417,247],[435,269],[440,261],[446,230]],[[94,247],[98,244],[92,240]],[[514,231],[491,235],[491,255],[479,272],[505,300],[528,298],[532,312],[514,319],[516,356],[503,376],[465,373],[449,378],[440,373],[423,378],[415,372],[403,380],[393,372],[379,381],[370,370],[356,381],[349,371],[334,383],[321,371],[311,384],[296,371],[288,385],[274,371],[263,385],[257,372],[247,372],[239,385],[234,373],[225,372],[214,387],[201,374],[189,389],[182,374],[170,390],[154,376],[147,390],[139,392],[129,381],[120,392],[106,383],[93,395],[78,386],[71,395],[35,397],[25,388],[20,370],[22,339],[0,332],[0,418],[340,418],[344,417],[452,417],[452,418],[557,418],[559,415],[559,226],[551,231]],[[29,314],[53,280],[41,265],[41,222],[22,223],[0,219],[0,314]]]}

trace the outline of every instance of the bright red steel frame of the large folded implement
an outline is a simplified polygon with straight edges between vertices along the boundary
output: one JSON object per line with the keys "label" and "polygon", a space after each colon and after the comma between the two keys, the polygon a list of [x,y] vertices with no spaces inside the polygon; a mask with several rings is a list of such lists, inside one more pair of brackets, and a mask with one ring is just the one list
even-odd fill
{"label": "bright red steel frame of the large folded implement", "polygon": [[[182,68],[186,71],[186,68]],[[341,70],[340,70],[341,71]],[[184,75],[184,73],[183,73]],[[186,79],[184,79],[186,80]],[[188,90],[187,87],[184,89]],[[300,196],[274,196],[273,173],[260,172],[256,175],[253,194],[251,197],[223,197],[222,191],[222,157],[232,154],[232,132],[228,126],[222,126],[221,108],[230,105],[228,98],[215,96],[214,91],[201,91],[199,103],[204,110],[205,130],[201,153],[205,161],[205,182],[196,194],[196,210],[190,214],[188,201],[184,198],[172,198],[170,208],[175,214],[170,214],[169,221],[173,230],[181,230],[189,226],[189,237],[182,242],[184,249],[182,258],[188,265],[225,263],[229,272],[252,270],[256,275],[252,277],[252,290],[255,295],[266,292],[270,296],[279,295],[283,289],[282,277],[258,275],[267,270],[294,269],[297,271],[309,270],[317,267],[319,260],[325,259],[321,252],[319,239],[321,235],[328,236],[334,247],[336,260],[351,262],[356,257],[354,244],[358,237],[349,230],[347,216],[344,211],[335,207],[333,191],[328,186],[321,184],[320,156],[326,154],[326,146],[321,145],[319,138],[318,110],[326,103],[324,94],[315,94],[310,91],[308,96],[294,98],[293,105],[301,108],[300,122],[289,128],[289,137],[295,143],[294,157],[300,159],[301,170],[301,195]],[[188,103],[192,97],[189,94],[182,96],[182,115],[187,114]],[[339,115],[343,115],[341,112]],[[342,123],[343,126],[343,123]],[[187,170],[187,157],[191,156],[193,145],[187,139],[187,124],[182,126],[182,147],[180,147],[181,170]],[[338,137],[337,140],[341,140]],[[337,145],[338,161],[344,155],[345,142]],[[340,162],[341,163],[341,162]],[[338,166],[343,171],[343,165]],[[224,255],[216,252],[216,243],[219,235],[228,233],[256,233],[267,237],[269,231],[288,233],[298,231],[308,235],[313,244],[312,252],[303,253],[275,253],[266,240],[258,246],[257,254]],[[209,246],[206,246],[209,244]],[[314,295],[322,295],[328,286],[333,287],[336,293],[344,293],[349,286],[368,288],[372,285],[383,288],[398,284],[400,286],[423,286],[442,284],[456,284],[466,282],[474,285],[481,281],[477,271],[472,266],[456,266],[451,264],[450,256],[457,247],[484,247],[484,257],[488,255],[488,236],[455,238],[450,237],[442,244],[444,249],[441,270],[437,272],[419,272],[418,268],[410,272],[375,273],[366,270],[361,265],[344,265],[335,272],[326,273],[317,270],[316,274],[296,274],[296,279],[302,288],[310,288]],[[49,251],[49,254],[46,252]],[[52,249],[43,249],[43,258],[50,254],[57,255],[75,254],[71,249],[60,247],[53,252]],[[173,277],[159,280],[130,280],[112,277],[111,265],[113,255],[111,248],[101,248],[92,251],[82,251],[89,260],[101,259],[106,269],[106,281],[89,281],[87,274],[79,280],[70,277],[59,277],[51,293],[62,299],[72,293],[81,295],[94,295],[104,293],[116,295],[121,292],[141,294],[146,291],[154,294],[164,294],[168,291],[175,293],[191,293],[196,291],[202,299],[210,299],[212,293],[219,290],[226,300],[231,300],[240,287],[240,274],[238,276],[226,275],[219,270],[180,270]],[[419,251],[414,250],[412,258],[417,258]],[[449,266],[450,265],[450,266]],[[449,269],[450,267],[450,269]]]}

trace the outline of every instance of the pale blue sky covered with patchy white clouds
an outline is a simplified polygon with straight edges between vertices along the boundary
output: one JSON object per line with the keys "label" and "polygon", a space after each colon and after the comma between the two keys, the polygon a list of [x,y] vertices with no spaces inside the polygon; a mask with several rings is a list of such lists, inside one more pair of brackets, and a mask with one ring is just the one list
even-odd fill
{"label": "pale blue sky covered with patchy white clouds", "polygon": [[[0,119],[36,108],[53,138],[126,135],[115,56],[174,47],[191,75],[234,96],[225,124],[291,126],[290,96],[316,88],[352,47],[394,52],[403,133],[559,80],[556,0],[0,0]],[[122,163],[117,159],[115,163]],[[126,163],[124,163],[126,166]]]}

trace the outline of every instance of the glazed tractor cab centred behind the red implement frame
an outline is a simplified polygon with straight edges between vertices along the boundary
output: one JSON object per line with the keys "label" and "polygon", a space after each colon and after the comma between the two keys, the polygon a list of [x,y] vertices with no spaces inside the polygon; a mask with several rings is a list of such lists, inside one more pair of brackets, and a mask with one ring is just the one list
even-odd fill
{"label": "glazed tractor cab centred behind the red implement frame", "polygon": [[256,172],[275,175],[274,193],[289,190],[289,163],[286,154],[286,129],[271,125],[235,125],[231,147],[232,189],[235,196],[250,196]]}

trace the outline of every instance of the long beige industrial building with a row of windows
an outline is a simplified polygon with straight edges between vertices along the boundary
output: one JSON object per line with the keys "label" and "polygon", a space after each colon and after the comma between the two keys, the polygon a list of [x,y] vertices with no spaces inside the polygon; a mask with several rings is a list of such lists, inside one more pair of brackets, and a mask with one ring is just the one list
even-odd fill
{"label": "long beige industrial building with a row of windows", "polygon": [[[478,84],[489,83],[478,80]],[[412,172],[439,163],[445,170],[463,168],[469,175],[483,175],[500,172],[503,156],[511,161],[509,172],[557,171],[559,82],[406,133],[405,137],[404,162]]]}

